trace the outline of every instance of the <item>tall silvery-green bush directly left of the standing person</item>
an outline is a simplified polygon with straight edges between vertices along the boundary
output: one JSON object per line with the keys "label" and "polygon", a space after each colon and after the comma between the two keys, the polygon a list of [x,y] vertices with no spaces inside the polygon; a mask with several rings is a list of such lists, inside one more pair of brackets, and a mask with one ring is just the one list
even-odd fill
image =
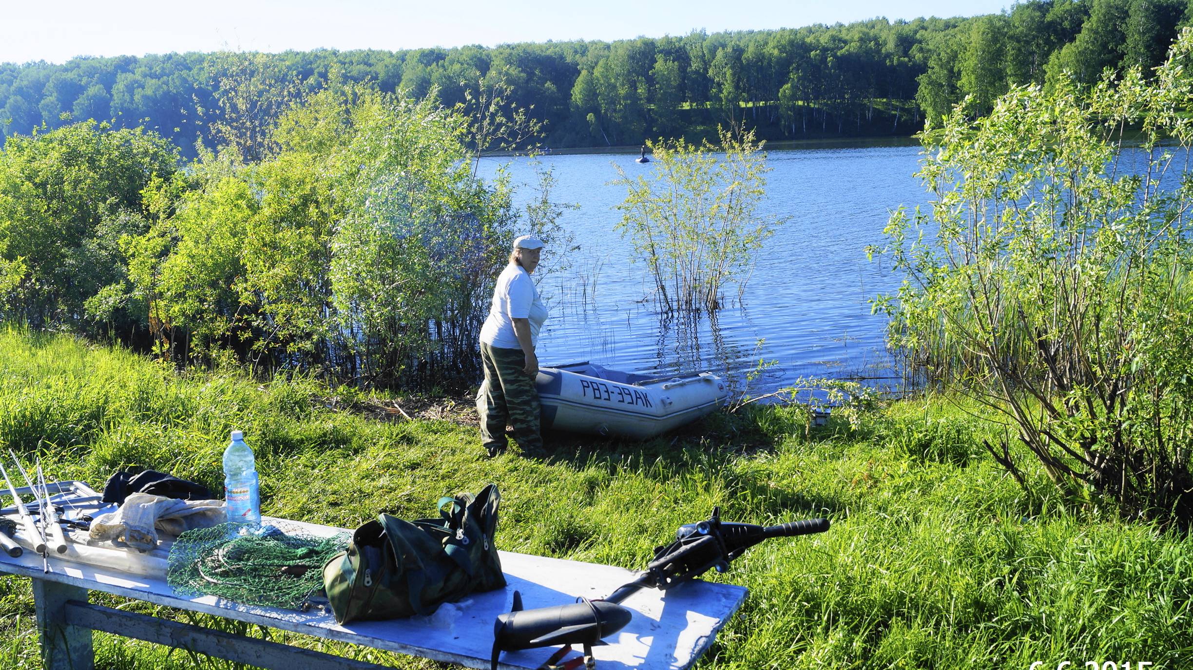
{"label": "tall silvery-green bush directly left of the standing person", "polygon": [[378,97],[352,122],[330,283],[360,374],[471,383],[486,286],[512,240],[508,190],[472,179],[468,119],[433,99]]}

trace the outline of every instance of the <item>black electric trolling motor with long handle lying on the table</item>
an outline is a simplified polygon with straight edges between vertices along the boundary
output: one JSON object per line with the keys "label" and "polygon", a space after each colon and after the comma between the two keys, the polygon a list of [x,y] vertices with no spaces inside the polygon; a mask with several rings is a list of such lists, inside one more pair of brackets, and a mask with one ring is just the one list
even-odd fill
{"label": "black electric trolling motor with long handle lying on the table", "polygon": [[[769,538],[793,538],[828,531],[828,519],[795,521],[779,526],[729,523],[721,521],[721,508],[713,508],[707,521],[685,523],[675,531],[675,541],[655,548],[655,558],[629,583],[608,597],[573,604],[523,609],[521,594],[514,591],[513,610],[497,616],[493,625],[493,670],[502,651],[565,645],[548,664],[567,655],[570,645],[583,645],[585,660],[592,660],[592,647],[605,644],[601,638],[624,628],[633,614],[620,603],[641,589],[672,589],[691,582],[710,569],[729,570],[729,563],[749,547]],[[569,662],[574,663],[574,662]],[[595,664],[595,662],[592,662]],[[565,664],[567,665],[567,664]]]}

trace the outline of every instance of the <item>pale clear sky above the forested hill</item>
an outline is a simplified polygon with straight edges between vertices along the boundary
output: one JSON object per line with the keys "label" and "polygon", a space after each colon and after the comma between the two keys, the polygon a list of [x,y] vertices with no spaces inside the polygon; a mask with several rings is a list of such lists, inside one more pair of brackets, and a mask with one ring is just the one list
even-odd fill
{"label": "pale clear sky above the forested hill", "polygon": [[169,51],[493,46],[996,13],[971,0],[0,0],[0,62]]}

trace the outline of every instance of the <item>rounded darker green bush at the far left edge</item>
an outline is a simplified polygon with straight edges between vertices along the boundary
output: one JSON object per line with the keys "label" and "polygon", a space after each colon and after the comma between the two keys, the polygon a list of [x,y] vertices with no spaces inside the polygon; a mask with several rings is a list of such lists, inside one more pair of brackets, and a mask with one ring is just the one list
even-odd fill
{"label": "rounded darker green bush at the far left edge", "polygon": [[35,328],[128,336],[118,241],[148,228],[142,192],[178,154],[141,129],[85,122],[13,137],[0,153],[0,314]]}

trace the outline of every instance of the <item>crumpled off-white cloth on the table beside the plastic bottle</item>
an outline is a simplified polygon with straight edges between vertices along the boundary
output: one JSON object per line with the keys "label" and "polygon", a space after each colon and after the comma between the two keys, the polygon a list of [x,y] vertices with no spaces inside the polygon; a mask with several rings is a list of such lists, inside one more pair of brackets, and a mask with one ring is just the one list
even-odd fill
{"label": "crumpled off-white cloth on the table beside the plastic bottle", "polygon": [[223,501],[180,501],[150,494],[131,494],[119,509],[91,522],[92,539],[123,540],[132,548],[157,546],[157,531],[181,535],[191,528],[208,528],[228,520]]}

